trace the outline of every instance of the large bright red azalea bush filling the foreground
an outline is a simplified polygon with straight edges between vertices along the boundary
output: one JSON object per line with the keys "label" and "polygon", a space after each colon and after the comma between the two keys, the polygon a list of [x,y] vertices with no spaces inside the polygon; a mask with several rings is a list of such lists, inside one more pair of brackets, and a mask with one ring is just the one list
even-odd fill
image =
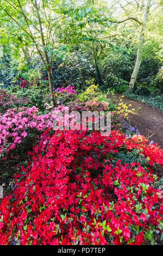
{"label": "large bright red azalea bush filling the foreground", "polygon": [[[0,243],[142,245],[161,232],[156,164],[163,152],[143,136],[47,130],[0,204]],[[135,154],[128,157],[127,154]],[[123,155],[119,159],[118,155]],[[128,163],[124,157],[128,157]]]}

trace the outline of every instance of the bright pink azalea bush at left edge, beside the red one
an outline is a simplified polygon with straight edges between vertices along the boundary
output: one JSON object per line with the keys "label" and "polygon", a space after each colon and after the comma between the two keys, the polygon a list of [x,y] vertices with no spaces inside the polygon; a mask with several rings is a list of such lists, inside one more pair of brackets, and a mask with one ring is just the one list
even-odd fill
{"label": "bright pink azalea bush at left edge, beside the red one", "polygon": [[8,109],[0,115],[0,159],[8,155],[9,151],[28,147],[35,142],[40,132],[52,127],[50,115],[37,115],[37,108]]}

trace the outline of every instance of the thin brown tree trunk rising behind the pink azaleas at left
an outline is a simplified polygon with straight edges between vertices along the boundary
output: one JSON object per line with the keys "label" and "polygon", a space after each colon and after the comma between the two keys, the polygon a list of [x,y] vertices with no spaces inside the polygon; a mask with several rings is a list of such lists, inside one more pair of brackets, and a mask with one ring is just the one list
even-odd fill
{"label": "thin brown tree trunk rising behind the pink azaleas at left", "polygon": [[55,95],[53,94],[53,82],[52,82],[52,72],[51,72],[51,65],[49,63],[49,59],[48,59],[48,54],[47,51],[45,50],[45,40],[43,37],[43,30],[42,30],[42,22],[41,22],[41,17],[40,17],[40,13],[39,13],[39,8],[37,6],[37,2],[35,0],[34,2],[34,7],[36,9],[36,13],[37,13],[37,18],[39,20],[39,26],[40,26],[40,34],[41,34],[41,41],[42,41],[42,47],[43,47],[43,53],[45,55],[45,60],[46,60],[46,69],[48,72],[48,81],[49,81],[49,88],[50,88],[50,92],[51,92],[51,105],[54,108],[54,106],[56,106],[56,98]]}

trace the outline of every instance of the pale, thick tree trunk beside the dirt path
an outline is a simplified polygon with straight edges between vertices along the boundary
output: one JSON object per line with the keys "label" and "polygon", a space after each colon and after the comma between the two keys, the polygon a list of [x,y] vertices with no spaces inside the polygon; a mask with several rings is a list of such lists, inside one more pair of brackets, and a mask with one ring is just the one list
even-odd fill
{"label": "pale, thick tree trunk beside the dirt path", "polygon": [[129,84],[130,89],[133,89],[134,86],[135,86],[135,81],[136,81],[136,78],[137,78],[137,74],[139,72],[140,65],[141,65],[141,62],[142,62],[141,51],[142,51],[143,39],[144,39],[144,29],[145,29],[146,20],[147,20],[148,14],[149,14],[150,5],[151,5],[151,0],[147,0],[146,5],[145,5],[144,15],[143,15],[142,28],[141,28],[141,31],[140,31],[140,39],[139,39],[139,46],[137,48],[136,62],[135,62],[133,74],[131,75],[130,84]]}

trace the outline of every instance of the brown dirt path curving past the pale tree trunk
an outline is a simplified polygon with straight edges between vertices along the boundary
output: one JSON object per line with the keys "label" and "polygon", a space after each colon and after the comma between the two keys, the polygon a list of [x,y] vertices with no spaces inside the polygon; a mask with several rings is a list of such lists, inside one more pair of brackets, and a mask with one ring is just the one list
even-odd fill
{"label": "brown dirt path curving past the pale tree trunk", "polygon": [[[116,99],[121,96],[121,94],[116,94]],[[123,102],[131,104],[131,108],[139,108],[137,113],[130,113],[129,119],[131,126],[138,129],[141,135],[144,135],[149,141],[154,141],[158,143],[163,149],[163,113],[146,105],[145,103],[129,99],[128,97],[123,97]]]}

